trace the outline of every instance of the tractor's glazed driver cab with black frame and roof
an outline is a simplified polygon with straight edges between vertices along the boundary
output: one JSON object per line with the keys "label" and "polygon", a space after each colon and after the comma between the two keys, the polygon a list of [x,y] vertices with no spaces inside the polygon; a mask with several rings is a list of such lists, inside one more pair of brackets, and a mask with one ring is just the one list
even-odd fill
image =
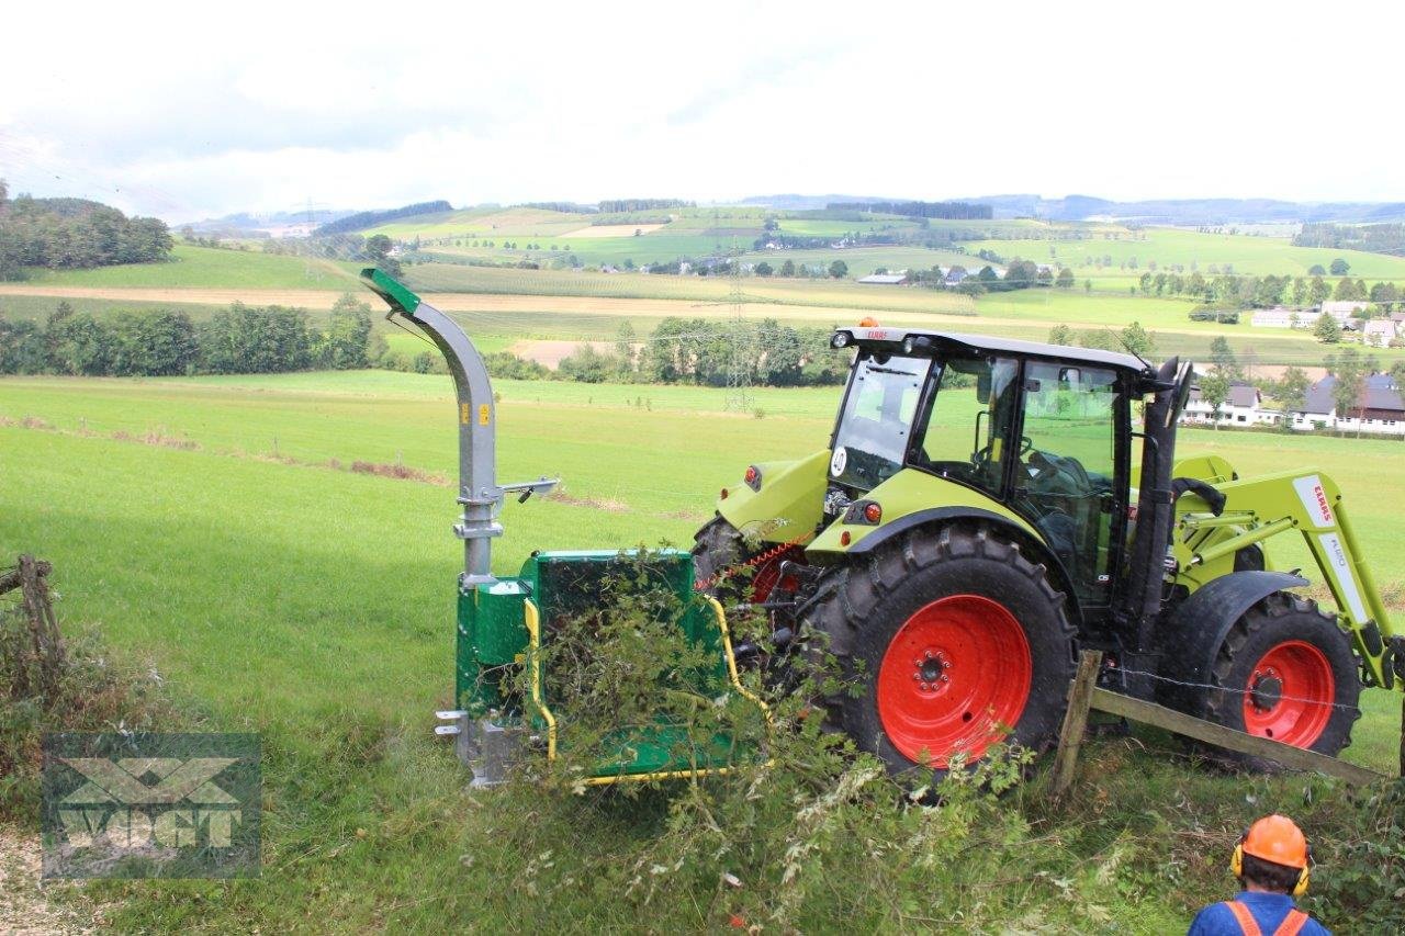
{"label": "tractor's glazed driver cab with black frame and roof", "polygon": [[[880,327],[839,330],[833,346],[856,357],[830,441],[826,520],[843,526],[860,500],[895,520],[903,505],[891,510],[885,495],[923,486],[929,507],[1013,514],[1058,558],[1080,604],[1109,604],[1127,540],[1131,401],[1144,392],[1144,361]],[[899,481],[913,472],[958,496]]]}

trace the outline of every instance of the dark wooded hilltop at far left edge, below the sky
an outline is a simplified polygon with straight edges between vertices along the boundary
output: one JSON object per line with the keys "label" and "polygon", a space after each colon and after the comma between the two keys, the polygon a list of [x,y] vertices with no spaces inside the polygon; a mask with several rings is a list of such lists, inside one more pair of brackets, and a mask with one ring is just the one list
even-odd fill
{"label": "dark wooded hilltop at far left edge, below the sky", "polygon": [[22,280],[25,267],[80,270],[166,260],[164,221],[128,218],[83,198],[8,197],[0,180],[0,280]]}

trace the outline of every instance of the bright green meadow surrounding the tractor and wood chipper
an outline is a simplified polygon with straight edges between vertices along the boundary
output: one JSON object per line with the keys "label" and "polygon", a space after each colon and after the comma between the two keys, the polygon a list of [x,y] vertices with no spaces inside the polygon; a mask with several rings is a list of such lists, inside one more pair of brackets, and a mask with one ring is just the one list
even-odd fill
{"label": "bright green meadow surrounding the tractor and wood chipper", "polygon": [[[721,412],[715,389],[495,389],[499,475],[561,474],[568,495],[509,505],[495,547],[502,573],[534,548],[688,542],[746,461],[823,446],[837,396],[757,391],[766,417],[756,419]],[[121,661],[159,673],[202,729],[263,735],[261,880],[87,888],[118,928],[714,930],[729,914],[766,919],[795,887],[781,884],[781,854],[747,864],[742,846],[711,877],[641,891],[629,869],[677,821],[666,801],[465,790],[430,734],[431,710],[450,703],[452,488],[329,464],[451,476],[450,399],[443,377],[357,371],[0,381],[0,476],[22,479],[0,485],[0,552],[52,559],[65,628],[96,632]],[[1243,472],[1291,461],[1333,474],[1347,498],[1371,503],[1357,512],[1359,531],[1399,603],[1405,447],[1190,431],[1186,448]],[[1394,763],[1398,704],[1367,693],[1352,759]],[[1217,776],[1177,750],[1155,732],[1094,742],[1079,802],[1006,800],[1027,817],[1016,824],[1024,831],[982,846],[993,849],[988,862],[957,860],[955,878],[929,873],[919,888],[856,904],[835,890],[851,870],[825,870],[816,852],[806,874],[829,885],[816,883],[787,919],[805,932],[840,918],[926,929],[964,914],[995,929],[1166,932],[1222,887],[1232,829],[1270,807],[1326,822],[1342,795],[1302,779]],[[819,847],[825,832],[805,835],[798,842]],[[717,883],[729,869],[746,883],[735,895]],[[1319,873],[1331,887],[1331,867]]]}

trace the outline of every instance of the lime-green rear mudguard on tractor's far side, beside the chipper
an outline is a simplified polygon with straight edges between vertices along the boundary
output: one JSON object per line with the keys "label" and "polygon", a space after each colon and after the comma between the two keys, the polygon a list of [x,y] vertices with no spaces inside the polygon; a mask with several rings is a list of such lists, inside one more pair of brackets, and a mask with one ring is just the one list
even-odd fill
{"label": "lime-green rear mudguard on tractor's far side, beside the chipper", "polygon": [[717,502],[722,519],[749,540],[805,542],[815,535],[825,512],[829,450],[797,461],[752,465],[756,481],[729,485]]}

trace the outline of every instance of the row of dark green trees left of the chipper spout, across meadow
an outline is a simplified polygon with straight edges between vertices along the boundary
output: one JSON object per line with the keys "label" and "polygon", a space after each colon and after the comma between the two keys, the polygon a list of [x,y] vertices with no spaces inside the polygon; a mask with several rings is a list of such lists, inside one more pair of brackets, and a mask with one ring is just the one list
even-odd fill
{"label": "row of dark green trees left of the chipper spout, across meadow", "polygon": [[302,309],[240,302],[194,320],[178,309],[94,318],[67,302],[42,323],[0,315],[0,374],[171,377],[370,367],[384,354],[371,308],[337,299],[325,327]]}

